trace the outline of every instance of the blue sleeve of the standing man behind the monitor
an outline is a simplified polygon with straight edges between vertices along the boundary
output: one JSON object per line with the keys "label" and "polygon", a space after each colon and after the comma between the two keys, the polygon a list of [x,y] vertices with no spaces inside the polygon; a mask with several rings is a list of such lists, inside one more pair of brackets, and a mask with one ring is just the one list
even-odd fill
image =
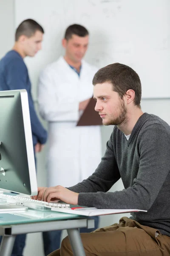
{"label": "blue sleeve of the standing man behind the monitor", "polygon": [[9,90],[20,90],[26,89],[28,93],[28,103],[31,119],[31,130],[32,134],[37,137],[37,140],[44,144],[47,140],[47,132],[40,123],[37,114],[34,109],[34,102],[31,96],[31,90],[28,90],[28,76],[27,68],[22,60],[15,59],[8,64],[6,71],[6,83]]}

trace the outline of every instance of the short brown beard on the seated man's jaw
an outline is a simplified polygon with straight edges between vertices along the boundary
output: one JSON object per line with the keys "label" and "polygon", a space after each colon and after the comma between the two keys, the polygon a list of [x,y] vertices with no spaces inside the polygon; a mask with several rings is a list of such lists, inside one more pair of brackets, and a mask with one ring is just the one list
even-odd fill
{"label": "short brown beard on the seated man's jaw", "polygon": [[104,125],[123,125],[127,122],[127,108],[125,107],[125,102],[122,100],[120,104],[120,115],[116,119],[112,119]]}

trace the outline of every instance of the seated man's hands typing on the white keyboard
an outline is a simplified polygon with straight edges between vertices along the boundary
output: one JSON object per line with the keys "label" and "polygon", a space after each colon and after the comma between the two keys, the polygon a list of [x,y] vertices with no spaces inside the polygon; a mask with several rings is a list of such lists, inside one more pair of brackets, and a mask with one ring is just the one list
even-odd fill
{"label": "seated man's hands typing on the white keyboard", "polygon": [[39,187],[38,195],[34,199],[45,202],[60,200],[67,204],[78,204],[78,193],[66,189],[63,186]]}

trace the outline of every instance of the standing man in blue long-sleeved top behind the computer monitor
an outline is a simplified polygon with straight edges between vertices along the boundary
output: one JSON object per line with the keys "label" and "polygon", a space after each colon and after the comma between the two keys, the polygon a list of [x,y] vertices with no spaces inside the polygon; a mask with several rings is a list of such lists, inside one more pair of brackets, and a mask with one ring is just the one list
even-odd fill
{"label": "standing man in blue long-sleeved top behind the computer monitor", "polygon": [[[0,90],[26,89],[28,92],[34,152],[42,150],[47,140],[47,131],[42,127],[35,112],[28,69],[23,59],[26,56],[34,57],[41,49],[43,33],[44,30],[36,21],[31,19],[24,20],[16,30],[13,49],[7,52],[0,60]],[[25,240],[26,234],[16,237],[12,256],[23,255]],[[53,247],[51,247],[52,250]]]}

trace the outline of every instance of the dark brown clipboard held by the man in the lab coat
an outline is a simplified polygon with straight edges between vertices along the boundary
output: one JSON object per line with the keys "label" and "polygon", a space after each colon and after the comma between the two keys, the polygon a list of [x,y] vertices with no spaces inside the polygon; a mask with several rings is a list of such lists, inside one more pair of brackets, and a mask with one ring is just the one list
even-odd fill
{"label": "dark brown clipboard held by the man in the lab coat", "polygon": [[99,116],[99,112],[94,110],[95,105],[96,101],[91,97],[76,126],[102,125],[102,118]]}

